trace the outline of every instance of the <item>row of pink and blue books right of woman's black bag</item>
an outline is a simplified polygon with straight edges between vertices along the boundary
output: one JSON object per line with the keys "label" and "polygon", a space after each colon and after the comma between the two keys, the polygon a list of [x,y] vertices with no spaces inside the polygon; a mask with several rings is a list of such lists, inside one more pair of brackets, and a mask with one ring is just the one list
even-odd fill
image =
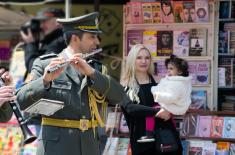
{"label": "row of pink and blue books right of woman's black bag", "polygon": [[235,142],[235,112],[189,110],[183,118],[182,139]]}

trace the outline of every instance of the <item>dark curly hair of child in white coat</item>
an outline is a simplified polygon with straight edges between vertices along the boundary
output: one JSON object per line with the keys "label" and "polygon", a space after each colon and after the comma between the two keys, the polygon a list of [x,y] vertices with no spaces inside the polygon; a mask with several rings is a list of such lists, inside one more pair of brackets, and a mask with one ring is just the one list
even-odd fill
{"label": "dark curly hair of child in white coat", "polygon": [[165,66],[167,67],[168,64],[174,65],[180,72],[182,72],[180,75],[187,77],[189,76],[188,72],[188,63],[184,59],[178,58],[175,55],[171,55],[170,58],[165,60]]}

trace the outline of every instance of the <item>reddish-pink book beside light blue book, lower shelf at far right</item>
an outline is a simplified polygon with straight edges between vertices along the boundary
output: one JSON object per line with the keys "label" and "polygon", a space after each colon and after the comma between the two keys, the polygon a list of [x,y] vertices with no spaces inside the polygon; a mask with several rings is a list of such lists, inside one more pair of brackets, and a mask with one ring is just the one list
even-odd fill
{"label": "reddish-pink book beside light blue book, lower shelf at far right", "polygon": [[213,116],[211,120],[211,137],[221,138],[223,133],[223,117]]}

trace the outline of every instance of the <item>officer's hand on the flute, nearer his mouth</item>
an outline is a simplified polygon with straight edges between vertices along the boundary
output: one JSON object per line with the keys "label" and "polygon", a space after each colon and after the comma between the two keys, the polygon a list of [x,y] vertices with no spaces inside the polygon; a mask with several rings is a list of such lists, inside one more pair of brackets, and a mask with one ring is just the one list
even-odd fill
{"label": "officer's hand on the flute, nearer his mouth", "polygon": [[95,72],[95,69],[92,68],[86,60],[82,58],[82,54],[74,54],[73,57],[71,58],[71,64],[79,70],[82,74],[87,75],[87,76],[92,76],[93,73]]}

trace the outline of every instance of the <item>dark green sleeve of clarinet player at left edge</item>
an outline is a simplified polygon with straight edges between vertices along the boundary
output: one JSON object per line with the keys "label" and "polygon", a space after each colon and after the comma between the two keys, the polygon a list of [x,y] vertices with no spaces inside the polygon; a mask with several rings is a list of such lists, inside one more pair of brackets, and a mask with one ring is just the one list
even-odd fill
{"label": "dark green sleeve of clarinet player at left edge", "polygon": [[0,122],[7,122],[11,119],[12,108],[9,103],[5,103],[0,107]]}

